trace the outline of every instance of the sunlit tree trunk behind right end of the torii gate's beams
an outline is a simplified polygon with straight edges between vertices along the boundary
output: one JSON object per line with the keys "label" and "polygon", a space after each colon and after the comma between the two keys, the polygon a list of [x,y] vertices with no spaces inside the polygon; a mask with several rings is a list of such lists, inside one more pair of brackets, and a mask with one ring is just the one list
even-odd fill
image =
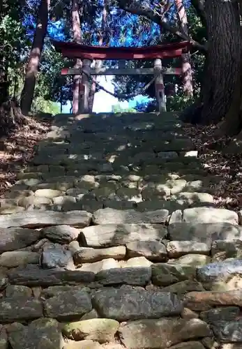
{"label": "sunlit tree trunk behind right end of the torii gate's beams", "polygon": [[[188,36],[188,18],[183,0],[176,1],[176,11],[180,22],[181,31]],[[187,96],[193,96],[192,66],[190,64],[190,53],[183,53],[181,56],[181,68],[183,73],[183,91]]]}

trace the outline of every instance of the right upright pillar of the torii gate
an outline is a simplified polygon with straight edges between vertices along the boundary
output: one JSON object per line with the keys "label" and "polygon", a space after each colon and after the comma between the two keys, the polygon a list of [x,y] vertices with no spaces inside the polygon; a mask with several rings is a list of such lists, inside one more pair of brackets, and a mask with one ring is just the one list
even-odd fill
{"label": "right upright pillar of the torii gate", "polygon": [[161,59],[155,59],[153,66],[153,73],[156,77],[155,87],[156,87],[156,99],[158,102],[159,112],[166,112],[167,107],[165,103],[165,87],[162,75],[162,61]]}

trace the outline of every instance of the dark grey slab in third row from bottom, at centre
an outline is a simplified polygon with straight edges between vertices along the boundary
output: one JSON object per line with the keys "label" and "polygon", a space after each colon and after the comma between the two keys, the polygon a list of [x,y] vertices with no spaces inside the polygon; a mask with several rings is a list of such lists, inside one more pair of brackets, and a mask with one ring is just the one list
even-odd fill
{"label": "dark grey slab in third row from bottom, at centre", "polygon": [[103,285],[146,285],[150,280],[150,267],[114,268],[96,274],[96,281]]}

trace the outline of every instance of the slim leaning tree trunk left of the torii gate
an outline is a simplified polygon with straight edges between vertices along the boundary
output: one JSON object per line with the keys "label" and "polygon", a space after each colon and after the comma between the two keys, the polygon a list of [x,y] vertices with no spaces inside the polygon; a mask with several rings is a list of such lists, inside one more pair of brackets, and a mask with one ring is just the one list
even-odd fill
{"label": "slim leaning tree trunk left of the torii gate", "polygon": [[34,88],[36,85],[36,76],[40,64],[43,43],[47,33],[48,15],[50,0],[41,0],[38,10],[38,20],[36,32],[33,38],[33,45],[29,56],[29,63],[24,80],[24,88],[21,96],[21,109],[23,114],[29,114],[33,101]]}

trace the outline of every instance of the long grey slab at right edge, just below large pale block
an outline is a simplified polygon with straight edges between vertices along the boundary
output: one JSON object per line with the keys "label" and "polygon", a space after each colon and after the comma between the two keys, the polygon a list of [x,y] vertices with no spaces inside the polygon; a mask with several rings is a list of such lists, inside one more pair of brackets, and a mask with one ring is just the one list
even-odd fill
{"label": "long grey slab at right edge, just below large pale block", "polygon": [[172,240],[207,242],[215,240],[242,240],[242,226],[231,223],[186,223],[178,222],[168,225]]}

